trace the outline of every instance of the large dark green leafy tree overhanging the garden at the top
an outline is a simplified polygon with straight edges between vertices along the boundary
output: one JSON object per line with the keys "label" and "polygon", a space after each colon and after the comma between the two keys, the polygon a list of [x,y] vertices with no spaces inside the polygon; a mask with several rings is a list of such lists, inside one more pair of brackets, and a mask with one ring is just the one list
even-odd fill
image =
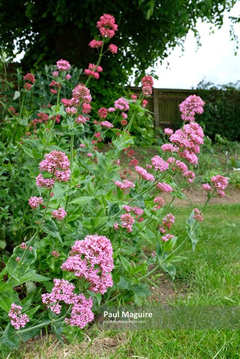
{"label": "large dark green leafy tree overhanging the garden at the top", "polygon": [[15,41],[18,51],[26,52],[22,61],[26,69],[55,63],[59,58],[85,68],[95,59],[96,52],[88,44],[99,35],[96,22],[103,13],[112,14],[118,24],[113,43],[119,52],[117,58],[107,55],[102,66],[114,83],[127,83],[133,70],[138,83],[139,77],[157,59],[163,60],[170,49],[183,44],[189,30],[198,35],[198,19],[220,27],[223,12],[229,11],[235,2],[2,0],[0,44],[13,56]]}

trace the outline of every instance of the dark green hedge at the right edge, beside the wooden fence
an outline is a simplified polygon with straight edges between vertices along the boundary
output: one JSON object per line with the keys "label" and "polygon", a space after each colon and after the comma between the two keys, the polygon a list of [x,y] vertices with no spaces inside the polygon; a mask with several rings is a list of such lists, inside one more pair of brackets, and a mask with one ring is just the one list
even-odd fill
{"label": "dark green hedge at the right edge, beside the wooden fence", "polygon": [[212,140],[216,134],[230,141],[240,139],[239,85],[239,81],[221,86],[202,81],[197,86],[197,94],[206,102],[204,112],[197,116],[197,121]]}

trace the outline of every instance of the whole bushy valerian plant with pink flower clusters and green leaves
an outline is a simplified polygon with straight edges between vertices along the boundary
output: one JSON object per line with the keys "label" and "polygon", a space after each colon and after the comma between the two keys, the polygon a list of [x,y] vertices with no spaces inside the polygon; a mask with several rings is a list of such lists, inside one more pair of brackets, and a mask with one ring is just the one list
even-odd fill
{"label": "whole bushy valerian plant with pink flower clusters and green leaves", "polygon": [[[49,74],[55,105],[45,103],[34,116],[39,93],[32,73],[23,77],[16,106],[2,103],[0,343],[7,347],[18,348],[43,328],[61,340],[63,331],[82,330],[108,303],[144,303],[150,294],[145,278],[159,268],[174,278],[174,263],[186,259],[178,250],[189,240],[195,249],[206,205],[225,195],[227,179],[213,177],[203,185],[206,204],[186,221],[186,237],[174,235],[171,204],[182,197],[175,179],[192,183],[195,177],[190,166],[197,164],[204,133],[194,116],[204,102],[195,95],[183,101],[182,128],[165,129],[159,155],[139,166],[131,128],[146,111],[153,80],[143,76],[139,97],[112,99],[111,107],[91,115],[90,81],[101,76],[104,54],[117,53],[108,44],[117,31],[113,16],[101,16],[97,27],[100,36],[89,45],[98,60],[84,71],[85,84],[71,89],[71,66],[61,59]],[[71,98],[63,97],[69,89]],[[109,150],[101,152],[109,132]]]}

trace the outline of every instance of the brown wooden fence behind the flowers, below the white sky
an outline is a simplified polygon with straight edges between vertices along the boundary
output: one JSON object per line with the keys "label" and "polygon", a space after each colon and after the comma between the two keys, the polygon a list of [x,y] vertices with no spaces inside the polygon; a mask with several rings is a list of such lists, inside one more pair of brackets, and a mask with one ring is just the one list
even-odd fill
{"label": "brown wooden fence behind the flowers, below the white sky", "polygon": [[[139,87],[129,89],[135,94],[141,92]],[[197,95],[197,90],[153,89],[147,109],[154,113],[154,127],[176,128],[181,120],[179,104],[193,94]]]}

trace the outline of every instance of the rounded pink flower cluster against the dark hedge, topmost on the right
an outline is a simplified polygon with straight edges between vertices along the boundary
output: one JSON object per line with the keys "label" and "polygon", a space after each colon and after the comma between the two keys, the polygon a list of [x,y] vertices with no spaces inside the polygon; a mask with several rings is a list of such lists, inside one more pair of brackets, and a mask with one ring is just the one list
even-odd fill
{"label": "rounded pink flower cluster against the dark hedge, topmost on the right", "polygon": [[205,102],[201,97],[196,95],[188,96],[182,103],[180,103],[179,108],[181,111],[181,117],[183,121],[195,121],[195,113],[203,113]]}

